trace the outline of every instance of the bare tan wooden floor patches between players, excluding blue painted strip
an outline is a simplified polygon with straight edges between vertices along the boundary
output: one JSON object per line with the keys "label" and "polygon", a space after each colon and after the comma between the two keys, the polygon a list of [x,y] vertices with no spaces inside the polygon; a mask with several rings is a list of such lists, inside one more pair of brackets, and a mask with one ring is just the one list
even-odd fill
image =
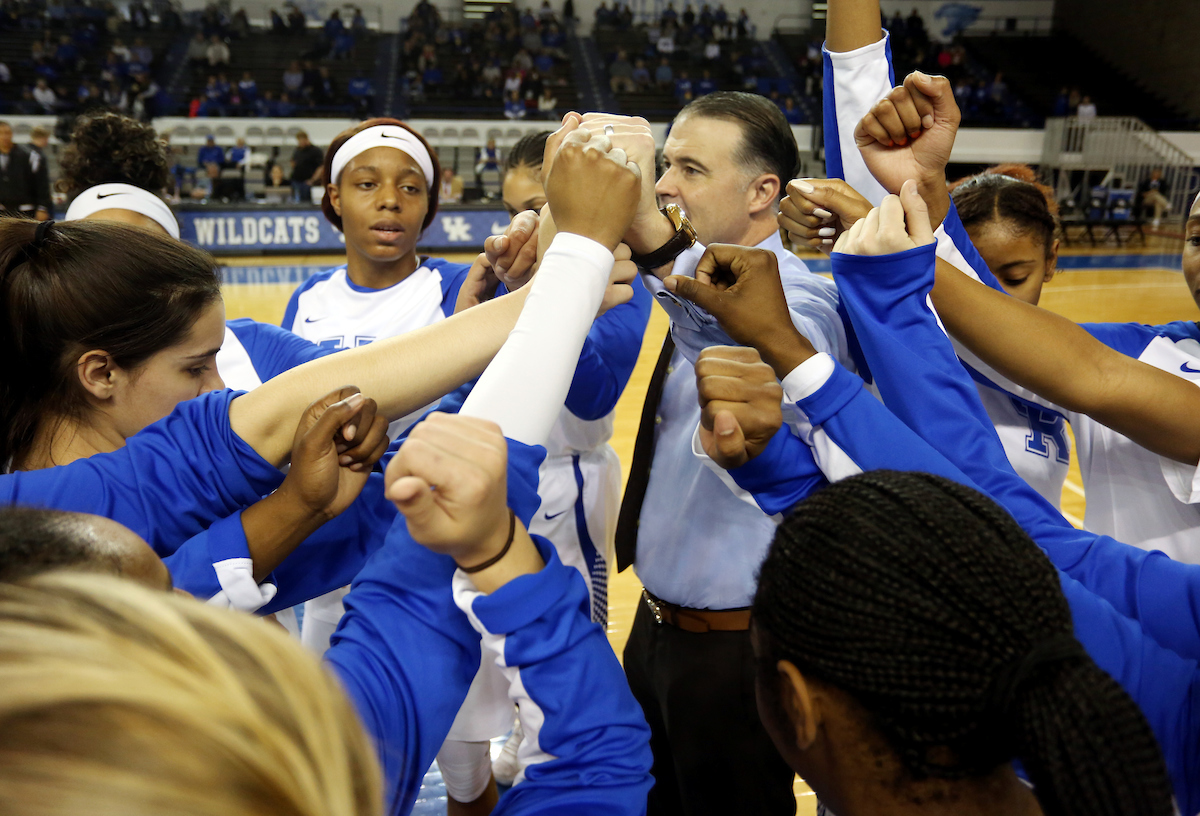
{"label": "bare tan wooden floor patches between players, excluding blue painted strip", "polygon": [[[1180,251],[1180,242],[1165,244],[1159,251]],[[1073,252],[1070,254],[1111,254],[1112,248],[1096,252]],[[451,260],[469,262],[474,256],[448,256]],[[259,266],[265,264],[320,265],[331,266],[342,263],[335,256],[311,256],[288,258],[234,258],[226,263],[230,266]],[[226,311],[229,318],[252,317],[258,320],[278,323],[283,308],[292,294],[292,284],[246,284],[226,288]],[[1198,320],[1200,310],[1192,301],[1178,271],[1166,269],[1088,269],[1063,271],[1046,286],[1042,305],[1072,320],[1080,323],[1099,322],[1139,322],[1166,323],[1169,320]],[[654,370],[659,347],[666,334],[667,322],[660,308],[655,308],[637,368],[617,404],[617,420],[612,445],[620,456],[623,480],[629,475],[629,462],[632,456],[634,439],[637,434],[637,421],[641,414],[642,398]],[[1031,353],[1052,354],[1054,349],[1031,349]],[[1084,490],[1080,484],[1079,467],[1072,457],[1062,503],[1064,515],[1073,523],[1084,517]],[[608,640],[617,655],[622,654],[634,612],[640,602],[641,584],[632,570],[612,576],[608,583]],[[816,802],[811,791],[799,779],[796,782],[798,812],[809,816],[815,812]]]}

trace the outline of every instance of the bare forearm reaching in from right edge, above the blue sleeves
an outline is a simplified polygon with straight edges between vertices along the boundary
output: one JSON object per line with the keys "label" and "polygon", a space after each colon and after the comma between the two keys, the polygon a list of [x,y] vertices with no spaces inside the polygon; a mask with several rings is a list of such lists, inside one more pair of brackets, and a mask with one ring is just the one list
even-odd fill
{"label": "bare forearm reaching in from right edge, above the blue sleeves", "polygon": [[1138,444],[1200,460],[1200,389],[1126,356],[1064,317],[970,280],[937,262],[934,306],[954,337],[1002,376]]}

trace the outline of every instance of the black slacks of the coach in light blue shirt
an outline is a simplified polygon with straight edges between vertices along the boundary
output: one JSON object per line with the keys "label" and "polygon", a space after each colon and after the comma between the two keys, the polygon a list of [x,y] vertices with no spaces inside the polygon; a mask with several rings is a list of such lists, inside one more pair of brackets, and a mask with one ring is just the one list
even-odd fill
{"label": "black slacks of the coach in light blue shirt", "polygon": [[625,674],[650,725],[648,816],[791,816],[794,774],[758,720],[749,631],[685,632],[638,602]]}

